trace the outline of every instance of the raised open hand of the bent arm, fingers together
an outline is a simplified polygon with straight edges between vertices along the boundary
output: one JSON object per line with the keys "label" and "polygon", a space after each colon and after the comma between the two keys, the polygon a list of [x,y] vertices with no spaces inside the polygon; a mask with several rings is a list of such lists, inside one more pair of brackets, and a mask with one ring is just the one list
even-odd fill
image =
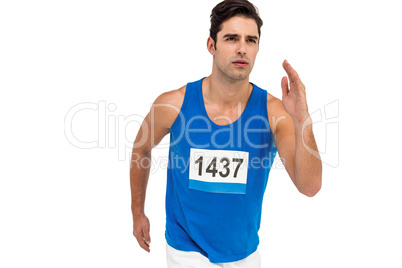
{"label": "raised open hand of the bent arm, fingers together", "polygon": [[309,117],[306,87],[287,60],[284,60],[282,66],[285,69],[290,82],[289,88],[288,78],[286,76],[282,77],[282,104],[286,112],[292,116],[293,120],[297,120],[301,123]]}

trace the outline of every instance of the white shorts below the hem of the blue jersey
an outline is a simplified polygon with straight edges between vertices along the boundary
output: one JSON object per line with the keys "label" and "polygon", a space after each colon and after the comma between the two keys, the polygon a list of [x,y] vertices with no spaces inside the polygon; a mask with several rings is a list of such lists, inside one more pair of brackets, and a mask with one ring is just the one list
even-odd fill
{"label": "white shorts below the hem of the blue jersey", "polygon": [[166,243],[166,258],[168,268],[261,268],[261,256],[258,249],[243,260],[212,263],[199,252],[177,250]]}

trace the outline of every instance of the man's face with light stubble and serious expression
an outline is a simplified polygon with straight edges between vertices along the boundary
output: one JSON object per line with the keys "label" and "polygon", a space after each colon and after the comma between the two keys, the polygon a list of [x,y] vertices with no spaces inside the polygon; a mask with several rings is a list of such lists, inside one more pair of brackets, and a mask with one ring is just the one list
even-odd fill
{"label": "man's face with light stubble and serious expression", "polygon": [[247,79],[258,53],[258,26],[254,19],[235,16],[222,24],[217,34],[214,68],[233,80]]}

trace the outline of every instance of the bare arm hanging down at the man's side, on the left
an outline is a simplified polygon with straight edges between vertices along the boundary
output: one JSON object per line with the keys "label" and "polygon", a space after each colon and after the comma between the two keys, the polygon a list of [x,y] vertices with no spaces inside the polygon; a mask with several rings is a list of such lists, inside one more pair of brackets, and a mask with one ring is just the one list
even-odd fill
{"label": "bare arm hanging down at the man's side, on the left", "polygon": [[145,216],[145,196],[151,169],[151,150],[160,143],[180,111],[180,91],[161,94],[153,103],[134,141],[130,162],[131,211],[133,235],[138,244],[150,252],[150,224]]}

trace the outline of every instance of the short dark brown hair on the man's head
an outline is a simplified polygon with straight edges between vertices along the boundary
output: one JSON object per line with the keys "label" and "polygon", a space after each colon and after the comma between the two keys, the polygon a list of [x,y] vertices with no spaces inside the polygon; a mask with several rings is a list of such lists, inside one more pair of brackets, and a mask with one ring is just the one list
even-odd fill
{"label": "short dark brown hair on the man's head", "polygon": [[217,4],[212,9],[211,13],[209,36],[215,41],[215,49],[217,41],[216,36],[218,32],[222,30],[222,23],[237,15],[254,19],[258,26],[258,35],[261,36],[262,19],[260,18],[257,7],[247,0],[224,0]]}

